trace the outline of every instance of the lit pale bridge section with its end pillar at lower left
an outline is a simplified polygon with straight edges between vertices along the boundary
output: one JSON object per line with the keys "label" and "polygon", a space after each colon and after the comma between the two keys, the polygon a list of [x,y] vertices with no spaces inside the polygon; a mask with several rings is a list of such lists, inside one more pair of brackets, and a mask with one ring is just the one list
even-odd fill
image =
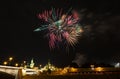
{"label": "lit pale bridge section with its end pillar at lower left", "polygon": [[22,79],[22,69],[23,68],[21,68],[21,67],[0,65],[0,71],[15,76],[15,79]]}

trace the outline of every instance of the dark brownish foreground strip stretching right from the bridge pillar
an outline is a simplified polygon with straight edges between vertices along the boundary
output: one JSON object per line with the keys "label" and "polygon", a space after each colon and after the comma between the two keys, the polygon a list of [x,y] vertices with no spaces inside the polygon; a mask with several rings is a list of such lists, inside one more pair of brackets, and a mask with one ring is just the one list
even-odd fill
{"label": "dark brownish foreground strip stretching right from the bridge pillar", "polygon": [[120,79],[120,73],[39,75],[39,76],[24,76],[22,79]]}

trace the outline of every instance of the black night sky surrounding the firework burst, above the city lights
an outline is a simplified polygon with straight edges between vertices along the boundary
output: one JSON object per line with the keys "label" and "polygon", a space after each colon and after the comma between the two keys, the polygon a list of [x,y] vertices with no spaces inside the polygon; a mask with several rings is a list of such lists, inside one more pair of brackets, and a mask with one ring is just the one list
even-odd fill
{"label": "black night sky surrounding the firework burst, above the city lights", "polygon": [[[86,61],[120,61],[120,8],[117,0],[12,0],[1,6],[0,61],[13,56],[16,61],[32,58],[37,64],[46,64],[48,59],[56,66],[67,66],[76,53],[82,53]],[[46,9],[70,7],[82,15],[84,33],[79,43],[70,48],[50,51],[44,32],[33,30],[40,24],[37,14]]]}

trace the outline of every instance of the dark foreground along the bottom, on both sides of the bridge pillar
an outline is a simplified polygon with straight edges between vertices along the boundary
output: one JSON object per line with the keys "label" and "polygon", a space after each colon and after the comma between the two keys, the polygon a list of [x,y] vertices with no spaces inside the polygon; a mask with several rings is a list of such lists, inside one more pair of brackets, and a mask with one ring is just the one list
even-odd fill
{"label": "dark foreground along the bottom, on both sides of the bridge pillar", "polygon": [[[14,76],[0,72],[0,79],[15,79]],[[120,72],[114,73],[82,73],[82,74],[66,74],[66,75],[29,75],[22,79],[120,79]]]}

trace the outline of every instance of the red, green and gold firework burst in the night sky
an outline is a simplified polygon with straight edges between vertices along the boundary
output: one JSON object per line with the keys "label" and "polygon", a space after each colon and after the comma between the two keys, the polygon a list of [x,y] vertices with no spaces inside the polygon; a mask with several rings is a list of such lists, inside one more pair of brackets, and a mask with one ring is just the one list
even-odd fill
{"label": "red, green and gold firework burst in the night sky", "polygon": [[52,10],[45,10],[38,14],[38,18],[47,24],[41,25],[34,31],[48,30],[46,35],[49,38],[50,48],[58,47],[60,43],[74,46],[78,42],[82,28],[79,24],[79,14],[76,11],[71,11],[70,8],[67,13],[63,13],[62,9],[52,8]]}

